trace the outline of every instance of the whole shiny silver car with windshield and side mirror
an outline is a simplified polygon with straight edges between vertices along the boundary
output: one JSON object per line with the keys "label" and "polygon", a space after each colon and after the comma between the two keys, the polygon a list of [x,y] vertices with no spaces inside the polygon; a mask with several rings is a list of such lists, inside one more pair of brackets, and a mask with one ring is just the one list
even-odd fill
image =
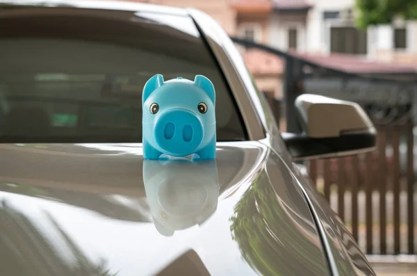
{"label": "whole shiny silver car with windshield and side mirror", "polygon": [[[280,133],[243,59],[197,10],[0,1],[1,275],[375,275],[293,161],[366,152],[352,102],[302,95]],[[207,76],[217,156],[142,156],[154,74]]]}

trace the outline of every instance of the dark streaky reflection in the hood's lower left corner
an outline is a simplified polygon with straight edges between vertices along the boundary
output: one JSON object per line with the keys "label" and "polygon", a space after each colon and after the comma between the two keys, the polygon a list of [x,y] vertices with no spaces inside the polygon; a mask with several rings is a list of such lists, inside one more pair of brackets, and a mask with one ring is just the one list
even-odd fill
{"label": "dark streaky reflection in the hood's lower left corner", "polygon": [[13,271],[14,275],[117,275],[106,259],[88,257],[48,211],[35,220],[3,199],[0,223],[3,271]]}

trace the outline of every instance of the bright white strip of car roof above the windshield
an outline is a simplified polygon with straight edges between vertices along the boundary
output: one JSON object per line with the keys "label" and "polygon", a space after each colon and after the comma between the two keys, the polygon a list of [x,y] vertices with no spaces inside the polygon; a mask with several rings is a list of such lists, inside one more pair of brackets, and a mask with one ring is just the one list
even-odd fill
{"label": "bright white strip of car roof above the windshield", "polygon": [[65,7],[188,15],[186,8],[174,8],[151,3],[111,0],[0,0],[0,6],[36,6],[47,8]]}

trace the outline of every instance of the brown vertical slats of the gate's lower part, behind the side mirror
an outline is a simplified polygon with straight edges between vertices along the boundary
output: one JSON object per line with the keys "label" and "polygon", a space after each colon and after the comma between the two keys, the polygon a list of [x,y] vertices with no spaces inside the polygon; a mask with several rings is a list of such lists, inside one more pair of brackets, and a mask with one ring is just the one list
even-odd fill
{"label": "brown vertical slats of the gate's lower part, behind the side mirror", "polygon": [[[278,122],[280,102],[265,96]],[[309,161],[309,175],[367,254],[416,254],[414,124],[377,130],[375,152]]]}

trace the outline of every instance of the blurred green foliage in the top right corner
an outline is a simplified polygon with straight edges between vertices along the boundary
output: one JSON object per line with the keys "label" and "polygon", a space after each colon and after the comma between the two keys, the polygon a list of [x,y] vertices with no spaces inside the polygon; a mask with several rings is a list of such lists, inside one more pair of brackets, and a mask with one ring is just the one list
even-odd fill
{"label": "blurred green foliage in the top right corner", "polygon": [[366,29],[377,24],[390,24],[395,17],[417,19],[417,0],[357,0],[357,26]]}

